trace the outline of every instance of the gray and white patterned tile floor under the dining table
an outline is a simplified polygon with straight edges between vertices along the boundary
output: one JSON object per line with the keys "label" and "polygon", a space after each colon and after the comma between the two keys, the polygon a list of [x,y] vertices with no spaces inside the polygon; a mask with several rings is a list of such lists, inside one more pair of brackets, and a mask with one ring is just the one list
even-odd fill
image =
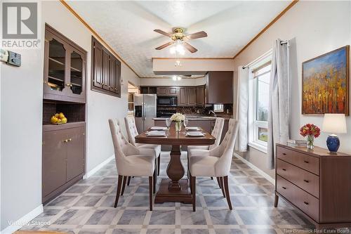
{"label": "gray and white patterned tile floor under the dining table", "polygon": [[[186,155],[182,157],[186,165]],[[166,176],[168,160],[169,154],[162,152],[161,176]],[[210,178],[197,180],[197,212],[192,212],[191,204],[177,202],[154,204],[150,212],[147,178],[132,178],[119,206],[114,208],[116,183],[117,171],[112,161],[47,204],[44,213],[34,219],[50,225],[23,229],[114,234],[265,234],[314,228],[284,201],[279,200],[278,208],[274,208],[274,186],[237,159],[233,160],[230,176],[232,211],[216,180]]]}

